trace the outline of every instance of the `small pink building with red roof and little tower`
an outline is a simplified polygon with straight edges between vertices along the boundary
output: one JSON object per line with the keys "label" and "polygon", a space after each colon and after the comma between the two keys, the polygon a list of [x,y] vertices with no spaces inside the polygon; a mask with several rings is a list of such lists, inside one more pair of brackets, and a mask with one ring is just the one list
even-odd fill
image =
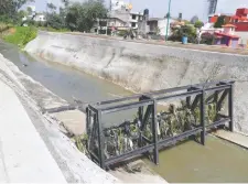
{"label": "small pink building with red roof and little tower", "polygon": [[226,24],[223,25],[223,31],[215,32],[215,44],[226,45],[229,47],[238,47],[239,36],[235,35],[235,25]]}

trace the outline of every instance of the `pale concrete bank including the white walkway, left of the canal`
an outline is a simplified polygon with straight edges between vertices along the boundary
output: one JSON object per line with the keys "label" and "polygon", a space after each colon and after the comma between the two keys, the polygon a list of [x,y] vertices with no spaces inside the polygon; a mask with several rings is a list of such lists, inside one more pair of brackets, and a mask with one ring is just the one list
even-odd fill
{"label": "pale concrete bank including the white walkway, left of the canal", "polygon": [[77,150],[57,119],[41,113],[66,101],[1,54],[0,88],[1,182],[120,183]]}

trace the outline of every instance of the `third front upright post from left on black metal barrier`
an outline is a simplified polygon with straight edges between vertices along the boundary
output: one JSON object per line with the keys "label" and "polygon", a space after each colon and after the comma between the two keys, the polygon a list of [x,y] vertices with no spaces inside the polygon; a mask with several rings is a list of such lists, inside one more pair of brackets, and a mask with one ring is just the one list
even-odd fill
{"label": "third front upright post from left on black metal barrier", "polygon": [[201,143],[205,145],[205,136],[206,136],[206,128],[205,128],[205,91],[203,89],[202,97],[201,97],[201,127],[203,131],[201,132]]}

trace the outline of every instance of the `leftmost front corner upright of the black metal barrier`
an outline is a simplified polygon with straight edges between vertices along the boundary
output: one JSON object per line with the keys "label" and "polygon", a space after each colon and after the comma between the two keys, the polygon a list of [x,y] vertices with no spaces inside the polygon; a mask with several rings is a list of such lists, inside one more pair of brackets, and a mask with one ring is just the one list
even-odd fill
{"label": "leftmost front corner upright of the black metal barrier", "polygon": [[98,123],[98,151],[99,151],[99,164],[101,169],[105,169],[105,155],[104,155],[104,134],[101,127],[101,111],[97,110],[97,123]]}

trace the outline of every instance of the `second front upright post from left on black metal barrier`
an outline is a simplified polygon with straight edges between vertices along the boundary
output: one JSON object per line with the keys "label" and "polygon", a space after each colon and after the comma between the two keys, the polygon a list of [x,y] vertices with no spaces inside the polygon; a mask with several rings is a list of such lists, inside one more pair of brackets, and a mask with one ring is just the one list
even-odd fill
{"label": "second front upright post from left on black metal barrier", "polygon": [[158,120],[157,120],[157,100],[153,100],[153,108],[152,108],[152,134],[153,134],[153,143],[154,143],[154,150],[153,150],[153,160],[154,163],[159,164],[159,148],[158,148]]}

